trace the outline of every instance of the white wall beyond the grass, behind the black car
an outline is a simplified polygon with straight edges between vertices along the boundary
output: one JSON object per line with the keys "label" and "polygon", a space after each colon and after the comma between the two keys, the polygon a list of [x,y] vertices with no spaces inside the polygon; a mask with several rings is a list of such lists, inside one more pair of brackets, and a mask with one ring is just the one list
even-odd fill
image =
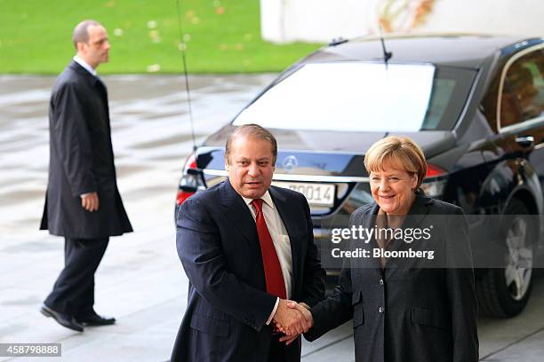
{"label": "white wall beyond the grass, behind the black car", "polygon": [[[413,26],[426,4],[430,12]],[[274,43],[376,34],[396,10],[389,25],[400,33],[544,35],[544,0],[260,0],[261,33]]]}

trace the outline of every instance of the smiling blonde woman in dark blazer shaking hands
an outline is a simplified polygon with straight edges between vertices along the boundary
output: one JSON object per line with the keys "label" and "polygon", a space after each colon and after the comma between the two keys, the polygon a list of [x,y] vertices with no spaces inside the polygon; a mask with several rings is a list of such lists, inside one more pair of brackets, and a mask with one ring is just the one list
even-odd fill
{"label": "smiling blonde woman in dark blazer shaking hands", "polygon": [[351,240],[351,247],[432,249],[435,257],[344,258],[340,285],[311,308],[314,327],[305,337],[313,341],[353,319],[357,362],[476,362],[476,293],[462,209],[419,192],[427,161],[409,138],[381,139],[364,166],[375,202],[352,214],[350,228],[427,229],[430,238],[408,242],[380,233],[367,244]]}

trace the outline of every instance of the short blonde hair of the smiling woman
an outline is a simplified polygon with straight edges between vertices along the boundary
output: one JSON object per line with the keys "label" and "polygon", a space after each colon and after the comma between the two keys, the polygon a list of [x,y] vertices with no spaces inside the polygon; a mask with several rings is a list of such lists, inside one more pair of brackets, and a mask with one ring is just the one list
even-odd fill
{"label": "short blonde hair of the smiling woman", "polygon": [[364,167],[369,173],[383,171],[386,164],[416,174],[418,176],[416,190],[420,188],[421,182],[427,175],[427,160],[423,151],[407,137],[381,138],[364,154]]}

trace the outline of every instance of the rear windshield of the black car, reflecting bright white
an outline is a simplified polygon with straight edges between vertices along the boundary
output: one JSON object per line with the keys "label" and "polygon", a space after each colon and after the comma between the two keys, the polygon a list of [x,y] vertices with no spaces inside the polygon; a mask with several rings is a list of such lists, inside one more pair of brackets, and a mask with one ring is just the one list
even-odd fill
{"label": "rear windshield of the black car, reflecting bright white", "polygon": [[452,130],[475,70],[430,64],[306,64],[264,92],[234,124],[284,130]]}

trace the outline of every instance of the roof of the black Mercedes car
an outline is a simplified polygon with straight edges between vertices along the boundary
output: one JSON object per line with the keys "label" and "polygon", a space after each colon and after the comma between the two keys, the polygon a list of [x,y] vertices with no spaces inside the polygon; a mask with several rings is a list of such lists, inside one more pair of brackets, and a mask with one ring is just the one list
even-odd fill
{"label": "roof of the black Mercedes car", "polygon": [[[496,54],[509,54],[536,43],[541,38],[519,35],[388,35],[384,37],[390,63],[433,63],[438,66],[478,68]],[[323,60],[383,61],[380,38],[362,37],[328,45],[302,63]]]}

